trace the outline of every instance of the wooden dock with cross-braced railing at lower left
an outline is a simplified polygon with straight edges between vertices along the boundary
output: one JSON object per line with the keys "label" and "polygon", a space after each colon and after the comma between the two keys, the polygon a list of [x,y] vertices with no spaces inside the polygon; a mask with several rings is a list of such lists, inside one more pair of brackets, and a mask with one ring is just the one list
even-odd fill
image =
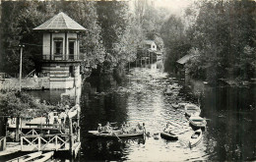
{"label": "wooden dock with cross-braced railing at lower left", "polygon": [[[20,142],[8,142],[6,150],[0,151],[0,156],[17,151],[64,151],[76,157],[81,148],[80,106],[71,108],[68,117],[68,124],[45,124],[43,117],[23,121]],[[8,128],[10,132],[15,129],[15,124]]]}

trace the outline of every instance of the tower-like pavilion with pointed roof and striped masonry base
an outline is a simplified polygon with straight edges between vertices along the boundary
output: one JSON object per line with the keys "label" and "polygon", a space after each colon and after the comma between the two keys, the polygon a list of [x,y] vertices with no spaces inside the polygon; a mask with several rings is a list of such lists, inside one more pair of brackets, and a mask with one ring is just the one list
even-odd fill
{"label": "tower-like pavilion with pointed roof and striped masonry base", "polygon": [[64,13],[33,29],[43,32],[41,73],[49,75],[50,88],[80,86],[82,60],[78,34],[87,29]]}

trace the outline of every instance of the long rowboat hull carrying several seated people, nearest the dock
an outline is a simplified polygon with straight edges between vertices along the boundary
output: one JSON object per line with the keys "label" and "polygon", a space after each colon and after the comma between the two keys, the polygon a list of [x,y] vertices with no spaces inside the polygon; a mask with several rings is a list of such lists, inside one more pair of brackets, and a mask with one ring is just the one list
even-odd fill
{"label": "long rowboat hull carrying several seated people, nearest the dock", "polygon": [[144,135],[143,131],[131,133],[131,134],[122,134],[121,131],[113,131],[112,133],[98,133],[97,131],[89,131],[88,133],[91,135],[98,136],[98,137],[133,137],[133,136]]}

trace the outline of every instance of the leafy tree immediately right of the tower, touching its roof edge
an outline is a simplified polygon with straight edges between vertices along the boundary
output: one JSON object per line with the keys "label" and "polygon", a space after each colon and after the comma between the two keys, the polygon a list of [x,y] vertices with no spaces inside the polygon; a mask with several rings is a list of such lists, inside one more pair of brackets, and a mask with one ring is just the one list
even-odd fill
{"label": "leafy tree immediately right of the tower, touching its roof edge", "polygon": [[101,65],[105,57],[105,48],[101,41],[101,27],[97,22],[96,2],[63,2],[63,10],[81,26],[88,29],[80,39],[81,53],[85,62],[82,65],[92,68]]}

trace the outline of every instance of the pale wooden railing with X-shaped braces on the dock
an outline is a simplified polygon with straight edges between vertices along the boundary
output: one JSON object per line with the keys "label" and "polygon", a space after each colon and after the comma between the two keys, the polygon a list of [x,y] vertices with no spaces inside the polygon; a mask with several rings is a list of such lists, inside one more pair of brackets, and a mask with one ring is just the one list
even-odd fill
{"label": "pale wooden railing with X-shaped braces on the dock", "polygon": [[68,149],[70,135],[23,135],[21,150],[60,150]]}

